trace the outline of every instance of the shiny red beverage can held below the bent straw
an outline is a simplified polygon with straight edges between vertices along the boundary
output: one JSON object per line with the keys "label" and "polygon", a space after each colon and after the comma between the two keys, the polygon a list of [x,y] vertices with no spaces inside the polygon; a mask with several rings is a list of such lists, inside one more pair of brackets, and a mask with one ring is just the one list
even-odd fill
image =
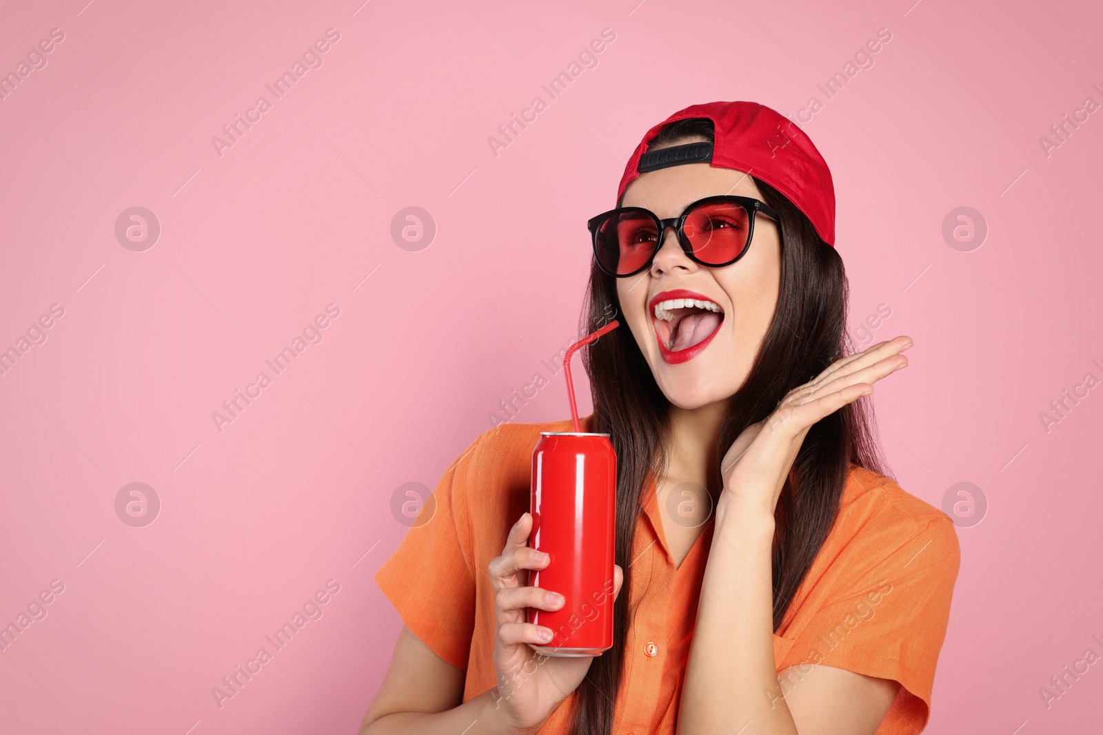
{"label": "shiny red beverage can held below the bent straw", "polygon": [[597,656],[613,645],[617,453],[609,434],[540,432],[533,450],[533,530],[528,545],[547,566],[529,585],[565,597],[557,610],[528,608],[528,621],[552,629],[545,656]]}

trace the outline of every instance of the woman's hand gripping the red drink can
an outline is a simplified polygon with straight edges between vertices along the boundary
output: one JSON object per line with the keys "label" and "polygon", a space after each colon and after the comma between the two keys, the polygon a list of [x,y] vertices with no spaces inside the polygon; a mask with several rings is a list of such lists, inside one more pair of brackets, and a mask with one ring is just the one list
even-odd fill
{"label": "woman's hand gripping the red drink can", "polygon": [[[592,656],[542,656],[529,647],[546,646],[550,628],[526,621],[525,608],[556,610],[564,598],[556,592],[522,586],[528,570],[542,570],[548,556],[528,547],[533,517],[525,512],[510,529],[502,555],[491,560],[491,582],[497,591],[494,602],[494,668],[497,674],[495,706],[505,714],[510,732],[535,733],[548,715],[582,682]],[[613,599],[620,594],[624,574],[613,565]],[[543,637],[542,637],[543,634]]]}

